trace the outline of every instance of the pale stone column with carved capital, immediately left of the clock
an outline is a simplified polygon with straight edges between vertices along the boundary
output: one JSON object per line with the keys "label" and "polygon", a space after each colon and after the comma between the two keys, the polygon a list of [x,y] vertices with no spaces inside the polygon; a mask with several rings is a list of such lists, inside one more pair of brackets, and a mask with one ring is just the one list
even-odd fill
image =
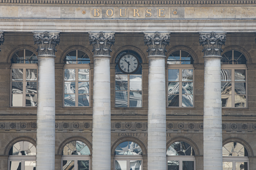
{"label": "pale stone column with carved capital, immediately left of the clock", "polygon": [[110,170],[110,49],[114,33],[89,33],[94,52],[92,106],[92,170]]}

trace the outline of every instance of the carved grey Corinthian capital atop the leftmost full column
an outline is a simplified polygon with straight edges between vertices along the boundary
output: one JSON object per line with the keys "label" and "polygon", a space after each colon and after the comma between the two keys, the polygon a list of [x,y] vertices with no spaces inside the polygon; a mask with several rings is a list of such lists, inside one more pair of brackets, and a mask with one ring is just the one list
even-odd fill
{"label": "carved grey Corinthian capital atop the leftmost full column", "polygon": [[59,32],[33,32],[34,44],[38,46],[38,55],[55,56],[56,45],[59,44]]}

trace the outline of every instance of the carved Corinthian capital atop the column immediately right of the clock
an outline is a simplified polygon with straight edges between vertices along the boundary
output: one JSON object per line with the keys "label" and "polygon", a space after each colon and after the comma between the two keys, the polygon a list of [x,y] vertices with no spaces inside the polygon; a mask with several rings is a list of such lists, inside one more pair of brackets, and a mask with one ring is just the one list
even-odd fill
{"label": "carved Corinthian capital atop the column immediately right of the clock", "polygon": [[165,47],[169,42],[170,33],[144,33],[144,43],[148,46],[149,56],[165,56]]}

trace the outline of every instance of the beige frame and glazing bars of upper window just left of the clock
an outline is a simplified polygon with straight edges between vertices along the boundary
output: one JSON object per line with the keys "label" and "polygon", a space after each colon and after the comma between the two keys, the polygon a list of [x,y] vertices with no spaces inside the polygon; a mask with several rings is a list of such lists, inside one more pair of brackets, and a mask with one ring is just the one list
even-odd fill
{"label": "beige frame and glazing bars of upper window just left of the clock", "polygon": [[[73,49],[73,50],[70,50],[66,53],[66,55],[71,52],[71,51],[74,51],[76,50],[76,58],[78,57],[77,56],[77,51],[80,50],[80,49]],[[83,50],[80,50],[82,52],[85,52],[86,51],[83,51]],[[86,53],[87,54],[87,53]],[[65,56],[66,56],[65,55]],[[88,55],[88,54],[87,54]],[[90,57],[89,57],[90,58]],[[91,67],[90,67],[90,64],[77,64],[78,61],[76,61],[76,64],[64,64],[64,67],[63,67],[63,107],[91,107],[91,90],[90,90],[90,85],[91,85]],[[69,81],[69,82],[75,82],[75,106],[65,106],[65,82],[68,82],[68,81],[65,81],[65,70],[66,69],[75,69],[75,81]],[[78,80],[78,76],[79,76],[79,69],[88,69],[89,70],[89,81],[82,81],[82,80]],[[82,95],[82,94],[79,94],[78,93],[78,85],[79,85],[79,82],[88,82],[89,83],[89,93],[88,94],[85,94],[85,95],[89,95],[89,106],[79,106],[78,104],[78,99],[79,99],[79,95]],[[68,94],[66,94],[68,95]]]}

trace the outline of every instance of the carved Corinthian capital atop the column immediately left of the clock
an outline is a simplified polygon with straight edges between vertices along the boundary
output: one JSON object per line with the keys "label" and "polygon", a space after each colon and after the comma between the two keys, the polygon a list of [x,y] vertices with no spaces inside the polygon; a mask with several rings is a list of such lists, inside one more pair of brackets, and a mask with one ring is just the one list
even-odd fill
{"label": "carved Corinthian capital atop the column immediately left of the clock", "polygon": [[115,33],[89,33],[90,45],[92,44],[92,52],[94,56],[110,56],[111,45],[114,45],[114,34]]}

